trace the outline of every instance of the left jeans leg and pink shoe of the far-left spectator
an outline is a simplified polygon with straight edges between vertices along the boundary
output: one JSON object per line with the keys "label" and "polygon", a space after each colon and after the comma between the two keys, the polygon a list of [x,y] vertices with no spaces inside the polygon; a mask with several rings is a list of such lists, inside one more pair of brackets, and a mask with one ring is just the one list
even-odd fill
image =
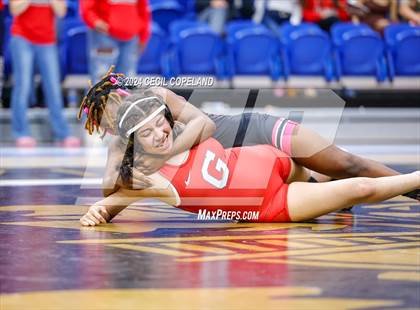
{"label": "left jeans leg and pink shoe of the far-left spectator", "polygon": [[34,147],[35,139],[30,137],[26,111],[32,90],[32,77],[35,52],[33,45],[18,36],[10,40],[12,55],[13,89],[12,89],[12,134],[19,147]]}

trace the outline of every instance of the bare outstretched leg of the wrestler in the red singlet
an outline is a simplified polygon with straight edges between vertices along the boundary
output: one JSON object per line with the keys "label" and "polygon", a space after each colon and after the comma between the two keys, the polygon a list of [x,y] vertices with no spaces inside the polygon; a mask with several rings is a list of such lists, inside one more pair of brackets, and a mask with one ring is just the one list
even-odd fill
{"label": "bare outstretched leg of the wrestler in the red singlet", "polygon": [[420,172],[379,178],[350,178],[327,183],[289,185],[292,221],[305,221],[354,204],[380,202],[420,188]]}

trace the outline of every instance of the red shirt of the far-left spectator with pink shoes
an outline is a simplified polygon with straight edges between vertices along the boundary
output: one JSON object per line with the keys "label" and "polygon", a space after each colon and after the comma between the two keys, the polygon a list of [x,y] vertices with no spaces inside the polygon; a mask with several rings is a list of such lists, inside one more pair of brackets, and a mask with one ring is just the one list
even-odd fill
{"label": "red shirt of the far-left spectator with pink shoes", "polygon": [[34,44],[55,43],[54,12],[49,1],[32,0],[23,13],[13,18],[12,35],[24,37]]}

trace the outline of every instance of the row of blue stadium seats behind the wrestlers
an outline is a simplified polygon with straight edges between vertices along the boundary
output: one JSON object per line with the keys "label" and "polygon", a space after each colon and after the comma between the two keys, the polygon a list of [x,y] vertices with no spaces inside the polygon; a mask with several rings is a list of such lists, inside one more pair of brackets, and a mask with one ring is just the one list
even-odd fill
{"label": "row of blue stadium seats behind the wrestlers", "polygon": [[[251,21],[232,21],[221,37],[171,1],[151,6],[152,35],[139,59],[138,73],[214,75],[220,80],[240,75],[287,80],[291,75],[373,76],[378,82],[395,76],[420,76],[420,27],[394,24],[384,38],[365,24],[338,23],[326,33],[317,25],[283,24],[277,32]],[[188,15],[188,18],[186,17]],[[184,19],[180,19],[183,18]],[[6,22],[7,23],[7,22]],[[8,21],[10,26],[10,20]],[[88,73],[87,27],[77,16],[64,19],[59,37],[63,77]],[[10,52],[5,44],[6,76]]]}

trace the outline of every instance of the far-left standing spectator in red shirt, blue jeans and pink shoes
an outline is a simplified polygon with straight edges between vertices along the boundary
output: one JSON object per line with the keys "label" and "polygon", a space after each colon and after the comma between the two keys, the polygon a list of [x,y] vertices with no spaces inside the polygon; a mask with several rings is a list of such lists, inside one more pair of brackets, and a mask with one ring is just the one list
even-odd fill
{"label": "far-left standing spectator in red shirt, blue jeans and pink shoes", "polygon": [[80,140],[69,136],[63,117],[63,96],[60,85],[58,52],[56,46],[55,17],[66,14],[62,0],[10,0],[13,15],[10,49],[12,55],[12,133],[18,147],[34,147],[26,117],[33,70],[37,64],[49,112],[52,130],[59,145],[78,147]]}

